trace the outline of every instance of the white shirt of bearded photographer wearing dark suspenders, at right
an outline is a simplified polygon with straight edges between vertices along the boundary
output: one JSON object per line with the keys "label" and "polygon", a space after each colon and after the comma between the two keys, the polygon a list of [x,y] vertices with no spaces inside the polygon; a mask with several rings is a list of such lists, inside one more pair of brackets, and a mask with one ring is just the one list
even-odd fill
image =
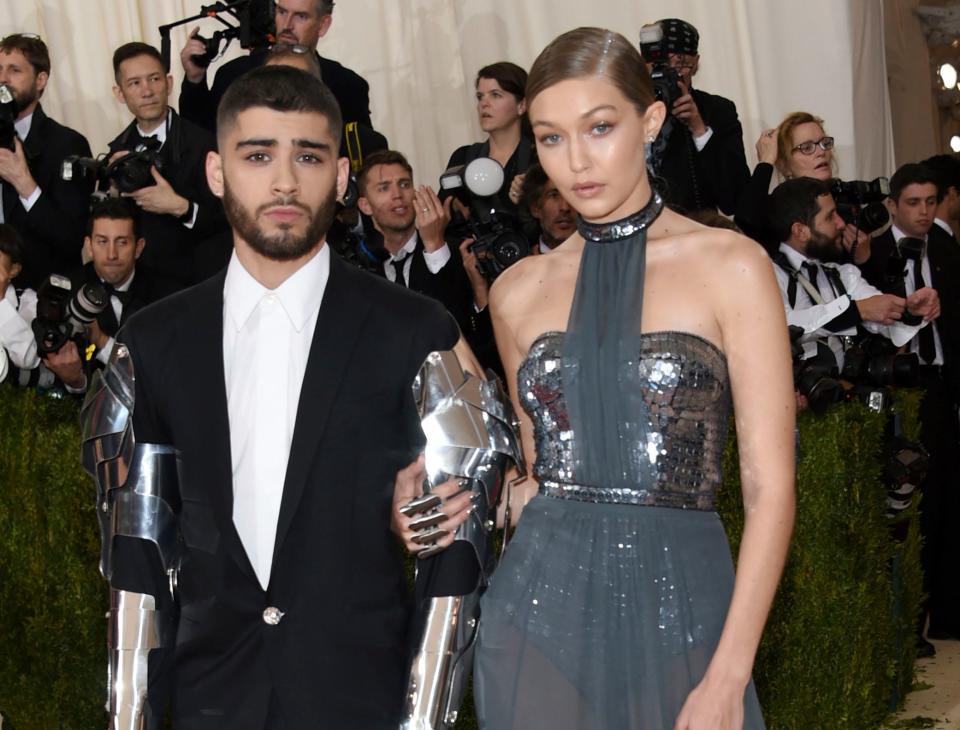
{"label": "white shirt of bearded photographer wearing dark suspenders, at right", "polygon": [[[790,275],[779,266],[773,267],[773,271],[777,276],[777,284],[780,285],[780,295],[783,298],[783,307],[787,314],[787,324],[800,327],[803,330],[800,345],[803,347],[804,358],[813,357],[817,352],[817,340],[825,338],[827,345],[836,357],[837,367],[842,369],[843,343],[840,337],[855,335],[857,328],[850,327],[840,332],[831,332],[830,330],[824,329],[824,327],[833,319],[846,312],[849,307],[856,306],[854,302],[877,296],[883,292],[870,285],[860,274],[860,269],[853,264],[832,264],[816,261],[815,259],[804,256],[785,243],[780,244],[780,251],[787,257],[790,265],[799,271],[803,277],[807,275],[806,269],[802,268],[805,261],[815,261],[819,265],[817,281],[811,283],[815,283],[820,290],[823,304],[817,304],[807,290],[798,282],[797,299],[792,308],[787,295]],[[847,291],[846,294],[840,294],[834,290],[833,284],[823,271],[824,268],[835,269],[840,274],[840,281]],[[860,324],[868,332],[881,334],[897,347],[901,347],[909,342],[920,328],[927,323],[924,322],[911,326],[903,324],[902,322],[895,322],[891,325],[884,325],[880,322],[863,320]]]}

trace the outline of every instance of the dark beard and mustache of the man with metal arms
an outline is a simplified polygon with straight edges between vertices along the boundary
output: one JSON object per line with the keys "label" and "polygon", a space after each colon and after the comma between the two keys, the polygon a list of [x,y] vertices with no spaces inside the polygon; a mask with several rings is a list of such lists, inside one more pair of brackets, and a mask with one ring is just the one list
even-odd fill
{"label": "dark beard and mustache of the man with metal arms", "polygon": [[[297,236],[288,224],[281,224],[280,231],[272,235],[264,233],[257,225],[260,214],[269,208],[278,205],[292,206],[302,210],[307,217],[307,227],[303,235]],[[233,195],[230,186],[224,180],[223,209],[227,214],[227,221],[240,238],[246,241],[261,256],[273,261],[293,261],[306,256],[316,248],[320,240],[330,230],[333,217],[336,214],[337,190],[330,189],[320,207],[314,212],[303,203],[288,198],[277,198],[257,208],[253,215],[243,207],[243,204]]]}

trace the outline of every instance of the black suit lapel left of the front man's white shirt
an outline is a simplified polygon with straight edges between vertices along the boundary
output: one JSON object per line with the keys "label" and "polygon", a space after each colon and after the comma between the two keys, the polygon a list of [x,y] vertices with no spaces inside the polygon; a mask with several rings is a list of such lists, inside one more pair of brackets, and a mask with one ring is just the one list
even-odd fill
{"label": "black suit lapel left of the front man's white shirt", "polygon": [[[200,284],[191,298],[190,326],[184,332],[192,377],[184,380],[187,401],[208,404],[194,411],[199,421],[196,433],[203,434],[209,458],[204,462],[205,481],[226,552],[250,577],[256,574],[240,535],[233,524],[233,463],[230,453],[230,419],[227,411],[227,386],[223,366],[223,284],[226,272]],[[136,280],[134,280],[136,281]]]}

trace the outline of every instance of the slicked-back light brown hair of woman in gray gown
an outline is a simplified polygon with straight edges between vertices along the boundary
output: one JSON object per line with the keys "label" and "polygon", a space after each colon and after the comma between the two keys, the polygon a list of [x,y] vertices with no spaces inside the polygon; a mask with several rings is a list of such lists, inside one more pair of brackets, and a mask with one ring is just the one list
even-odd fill
{"label": "slicked-back light brown hair of woman in gray gown", "polygon": [[577,28],[557,36],[533,62],[527,79],[527,104],[544,89],[568,79],[603,76],[643,114],[656,101],[640,51],[619,33]]}

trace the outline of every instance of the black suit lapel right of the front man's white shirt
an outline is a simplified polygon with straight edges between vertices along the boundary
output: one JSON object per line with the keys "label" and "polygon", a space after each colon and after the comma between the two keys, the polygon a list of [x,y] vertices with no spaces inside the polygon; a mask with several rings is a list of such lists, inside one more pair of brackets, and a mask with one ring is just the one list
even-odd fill
{"label": "black suit lapel right of the front man's white shirt", "polygon": [[[290,459],[283,484],[277,537],[273,551],[274,568],[283,540],[290,529],[300,499],[323,440],[340,385],[347,372],[370,314],[370,303],[358,296],[352,278],[366,276],[354,272],[331,252],[330,276],[317,316],[310,355],[300,388],[300,402],[290,445]],[[273,571],[271,571],[273,573]]]}

